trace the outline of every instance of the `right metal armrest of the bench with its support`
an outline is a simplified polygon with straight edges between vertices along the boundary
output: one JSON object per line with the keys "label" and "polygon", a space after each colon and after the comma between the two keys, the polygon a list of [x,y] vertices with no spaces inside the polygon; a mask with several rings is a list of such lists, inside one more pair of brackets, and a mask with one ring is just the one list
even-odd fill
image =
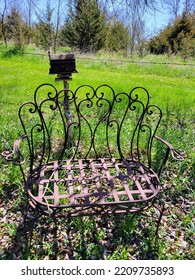
{"label": "right metal armrest of the bench with its support", "polygon": [[164,165],[166,164],[166,162],[168,160],[169,154],[171,154],[173,159],[175,159],[177,161],[184,160],[187,157],[187,155],[186,155],[185,151],[183,151],[181,149],[180,150],[175,149],[169,142],[167,142],[163,138],[161,138],[159,136],[156,136],[156,135],[154,137],[167,146],[167,151],[166,151],[165,157],[164,157],[163,162],[162,162],[162,164],[160,166],[160,169],[158,171],[158,176],[160,177],[162,169],[163,169]]}

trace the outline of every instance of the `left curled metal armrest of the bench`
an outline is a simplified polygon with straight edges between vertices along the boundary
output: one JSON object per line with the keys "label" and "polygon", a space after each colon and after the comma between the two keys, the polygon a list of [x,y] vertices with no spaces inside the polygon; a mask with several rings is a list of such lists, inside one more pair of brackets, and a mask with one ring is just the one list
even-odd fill
{"label": "left curled metal armrest of the bench", "polygon": [[19,139],[17,139],[15,142],[14,142],[14,145],[13,145],[13,150],[10,152],[10,151],[3,151],[1,153],[1,155],[3,157],[5,157],[5,159],[7,161],[12,161],[13,164],[15,165],[21,165],[25,162],[25,158],[24,156],[22,155],[22,153],[20,152],[19,150],[19,145],[20,145],[20,142],[27,138],[26,135],[20,137]]}

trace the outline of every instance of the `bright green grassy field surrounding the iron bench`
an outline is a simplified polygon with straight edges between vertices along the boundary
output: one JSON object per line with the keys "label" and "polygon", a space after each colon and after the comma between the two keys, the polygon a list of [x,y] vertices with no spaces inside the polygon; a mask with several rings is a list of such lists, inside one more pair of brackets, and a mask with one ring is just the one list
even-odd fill
{"label": "bright green grassy field surrounding the iron bench", "polygon": [[[195,66],[187,62],[163,56],[141,60],[78,55],[79,73],[73,74],[70,82],[71,89],[106,83],[116,91],[128,92],[143,86],[150,93],[151,103],[161,107],[163,137],[184,149],[188,158],[182,163],[171,160],[164,172],[166,211],[159,238],[153,238],[153,221],[148,219],[146,224],[141,214],[76,218],[68,223],[60,220],[57,227],[44,217],[34,221],[25,206],[19,169],[0,159],[0,259],[194,259]],[[0,53],[0,152],[10,148],[21,134],[19,105],[31,101],[41,83],[55,83],[48,69],[47,56]],[[55,85],[62,88],[62,83]],[[25,224],[27,212],[29,222]]]}

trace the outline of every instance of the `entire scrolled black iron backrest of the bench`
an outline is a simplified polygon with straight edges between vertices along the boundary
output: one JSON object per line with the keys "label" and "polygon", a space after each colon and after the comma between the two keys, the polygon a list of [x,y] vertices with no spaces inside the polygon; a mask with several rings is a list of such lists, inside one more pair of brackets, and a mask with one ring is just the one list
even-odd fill
{"label": "entire scrolled black iron backrest of the bench", "polygon": [[[52,160],[56,150],[59,161],[67,157],[75,159],[81,154],[83,158],[98,158],[101,152],[108,157],[116,153],[120,158],[140,161],[143,135],[147,165],[151,167],[152,144],[162,111],[150,105],[149,100],[149,93],[143,87],[136,87],[129,93],[115,93],[106,84],[96,89],[82,85],[75,91],[58,91],[51,84],[40,85],[34,101],[24,103],[19,109],[27,135],[30,171]],[[71,113],[69,123],[65,102]],[[113,145],[116,146],[114,152]]]}

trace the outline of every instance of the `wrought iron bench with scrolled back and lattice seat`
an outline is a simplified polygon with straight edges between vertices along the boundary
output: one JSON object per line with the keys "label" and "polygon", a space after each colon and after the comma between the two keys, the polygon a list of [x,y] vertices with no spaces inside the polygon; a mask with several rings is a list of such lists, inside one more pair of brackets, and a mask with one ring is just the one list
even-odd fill
{"label": "wrought iron bench with scrolled back and lattice seat", "polygon": [[2,155],[20,166],[33,208],[75,217],[155,207],[158,231],[163,166],[169,153],[176,160],[185,153],[156,135],[162,112],[149,104],[146,89],[58,91],[43,84],[34,101],[20,107],[19,118],[24,136]]}

